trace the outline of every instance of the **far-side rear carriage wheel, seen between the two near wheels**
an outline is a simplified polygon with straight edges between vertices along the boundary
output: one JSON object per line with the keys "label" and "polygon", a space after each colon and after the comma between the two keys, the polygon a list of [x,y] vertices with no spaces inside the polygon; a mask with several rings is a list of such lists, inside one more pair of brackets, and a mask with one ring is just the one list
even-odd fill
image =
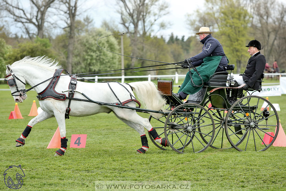
{"label": "far-side rear carriage wheel, seen between the two near wheels", "polygon": [[[231,144],[229,143],[228,139],[225,135],[225,119],[226,119],[226,109],[220,109],[210,106],[210,100],[209,98],[206,100],[204,107],[209,111],[209,113],[212,115],[214,119],[215,124],[215,137],[212,141],[212,143],[209,145],[210,147],[214,149],[229,149],[232,148]],[[202,110],[203,111],[203,110]],[[211,134],[212,131],[209,132]],[[209,135],[208,134],[208,135]],[[205,137],[207,135],[200,134],[201,138],[205,143],[208,143],[207,140],[205,140]]]}

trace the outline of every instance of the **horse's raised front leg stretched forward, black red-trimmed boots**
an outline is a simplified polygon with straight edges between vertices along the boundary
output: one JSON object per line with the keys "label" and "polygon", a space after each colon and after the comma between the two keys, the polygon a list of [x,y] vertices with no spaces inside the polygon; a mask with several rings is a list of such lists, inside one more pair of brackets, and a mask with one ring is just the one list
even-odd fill
{"label": "horse's raised front leg stretched forward, black red-trimmed boots", "polygon": [[54,117],[54,115],[50,114],[50,113],[46,113],[45,111],[41,112],[39,115],[37,115],[36,117],[32,118],[31,121],[28,123],[27,127],[25,128],[25,130],[23,131],[23,133],[21,134],[21,136],[16,140],[16,147],[20,147],[20,146],[24,146],[25,144],[25,139],[27,138],[27,136],[29,135],[29,133],[32,130],[32,127],[41,122],[44,121],[48,118]]}

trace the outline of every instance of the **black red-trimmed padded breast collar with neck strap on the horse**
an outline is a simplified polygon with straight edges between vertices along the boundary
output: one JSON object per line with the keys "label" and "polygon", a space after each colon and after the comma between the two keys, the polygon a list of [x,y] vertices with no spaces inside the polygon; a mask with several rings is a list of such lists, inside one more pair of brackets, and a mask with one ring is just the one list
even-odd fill
{"label": "black red-trimmed padded breast collar with neck strap on the horse", "polygon": [[60,74],[63,72],[63,69],[57,69],[52,77],[49,85],[40,93],[38,93],[38,100],[43,100],[46,98],[53,98],[56,100],[66,100],[66,94],[57,93],[55,91],[55,86],[60,78]]}

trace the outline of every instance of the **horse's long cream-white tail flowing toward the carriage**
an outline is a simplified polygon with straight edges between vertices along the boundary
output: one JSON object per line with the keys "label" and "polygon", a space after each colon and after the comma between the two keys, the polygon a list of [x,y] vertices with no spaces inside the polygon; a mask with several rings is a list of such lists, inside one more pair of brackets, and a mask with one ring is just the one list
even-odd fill
{"label": "horse's long cream-white tail flowing toward the carriage", "polygon": [[[148,110],[164,110],[166,100],[162,98],[156,85],[151,81],[131,82],[129,85],[133,88],[137,98],[142,101],[143,107]],[[159,117],[159,113],[150,113],[154,117]]]}

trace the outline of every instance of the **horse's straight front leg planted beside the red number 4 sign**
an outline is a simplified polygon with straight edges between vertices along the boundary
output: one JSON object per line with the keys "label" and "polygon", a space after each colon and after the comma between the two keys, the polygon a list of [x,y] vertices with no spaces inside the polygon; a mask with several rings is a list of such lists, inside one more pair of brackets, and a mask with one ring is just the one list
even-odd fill
{"label": "horse's straight front leg planted beside the red number 4 sign", "polygon": [[62,156],[66,152],[68,139],[66,138],[66,121],[65,121],[65,113],[57,112],[54,113],[55,118],[57,120],[57,124],[60,129],[60,149],[56,151],[55,156]]}

